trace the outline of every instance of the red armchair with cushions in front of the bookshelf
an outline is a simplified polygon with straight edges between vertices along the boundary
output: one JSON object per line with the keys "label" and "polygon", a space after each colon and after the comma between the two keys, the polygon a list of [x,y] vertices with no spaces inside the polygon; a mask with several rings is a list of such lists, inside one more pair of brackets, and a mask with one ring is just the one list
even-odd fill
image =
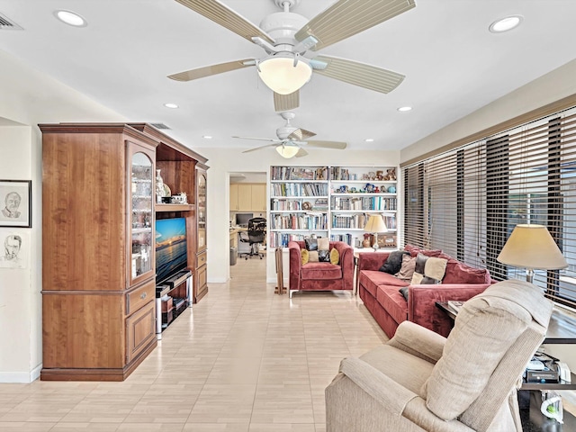
{"label": "red armchair with cushions in front of the bookshelf", "polygon": [[340,259],[331,263],[307,263],[302,266],[303,241],[288,243],[290,253],[290,298],[296,291],[333,291],[354,288],[354,248],[343,241],[330,241],[330,250],[336,248]]}

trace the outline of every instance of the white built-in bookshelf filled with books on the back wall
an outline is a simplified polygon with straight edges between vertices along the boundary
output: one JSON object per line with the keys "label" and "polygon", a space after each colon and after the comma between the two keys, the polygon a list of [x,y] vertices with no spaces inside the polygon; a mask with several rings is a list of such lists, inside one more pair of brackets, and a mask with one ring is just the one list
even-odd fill
{"label": "white built-in bookshelf filled with books on the back wall", "polygon": [[395,235],[396,172],[395,166],[271,166],[269,247],[312,234],[357,247],[374,213]]}

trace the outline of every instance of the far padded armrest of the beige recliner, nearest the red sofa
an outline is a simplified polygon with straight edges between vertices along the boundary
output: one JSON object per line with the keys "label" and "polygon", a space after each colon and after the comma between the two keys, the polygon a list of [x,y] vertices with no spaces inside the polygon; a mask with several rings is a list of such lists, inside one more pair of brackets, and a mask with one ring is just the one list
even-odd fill
{"label": "far padded armrest of the beige recliner, nearest the red sofa", "polygon": [[410,321],[402,321],[387,345],[436,364],[442,356],[446,338]]}

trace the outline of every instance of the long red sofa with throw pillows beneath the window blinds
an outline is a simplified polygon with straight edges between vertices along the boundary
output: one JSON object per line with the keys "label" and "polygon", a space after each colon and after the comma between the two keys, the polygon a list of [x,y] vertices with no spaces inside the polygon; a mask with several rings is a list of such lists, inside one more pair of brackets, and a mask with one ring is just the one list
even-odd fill
{"label": "long red sofa with throw pillows beneath the window blinds", "polygon": [[[411,285],[394,275],[379,271],[390,253],[360,253],[358,257],[358,292],[365,307],[389,338],[394,336],[402,321],[410,320],[447,337],[453,322],[440,311],[436,302],[455,300],[465,302],[482,293],[491,281],[487,269],[467,266],[441,251],[406,247],[412,257],[418,253],[447,260],[441,284]],[[400,289],[408,286],[408,302]]]}

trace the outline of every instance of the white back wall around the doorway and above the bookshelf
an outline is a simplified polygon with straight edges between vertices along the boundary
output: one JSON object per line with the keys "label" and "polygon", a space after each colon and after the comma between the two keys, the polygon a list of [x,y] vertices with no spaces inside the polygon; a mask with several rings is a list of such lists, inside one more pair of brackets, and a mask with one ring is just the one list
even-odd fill
{"label": "white back wall around the doorway and above the bookshelf", "polygon": [[[273,148],[259,155],[227,148],[194,148],[208,157],[208,282],[229,280],[229,173],[268,172],[273,165],[286,166],[397,166],[399,151],[314,150],[306,157],[284,159]],[[268,191],[269,192],[269,191]],[[400,191],[399,191],[400,192]],[[269,196],[269,193],[267,193]],[[267,206],[269,207],[269,203]],[[275,283],[275,257],[267,254],[266,280]],[[286,272],[284,272],[286,273]]]}

